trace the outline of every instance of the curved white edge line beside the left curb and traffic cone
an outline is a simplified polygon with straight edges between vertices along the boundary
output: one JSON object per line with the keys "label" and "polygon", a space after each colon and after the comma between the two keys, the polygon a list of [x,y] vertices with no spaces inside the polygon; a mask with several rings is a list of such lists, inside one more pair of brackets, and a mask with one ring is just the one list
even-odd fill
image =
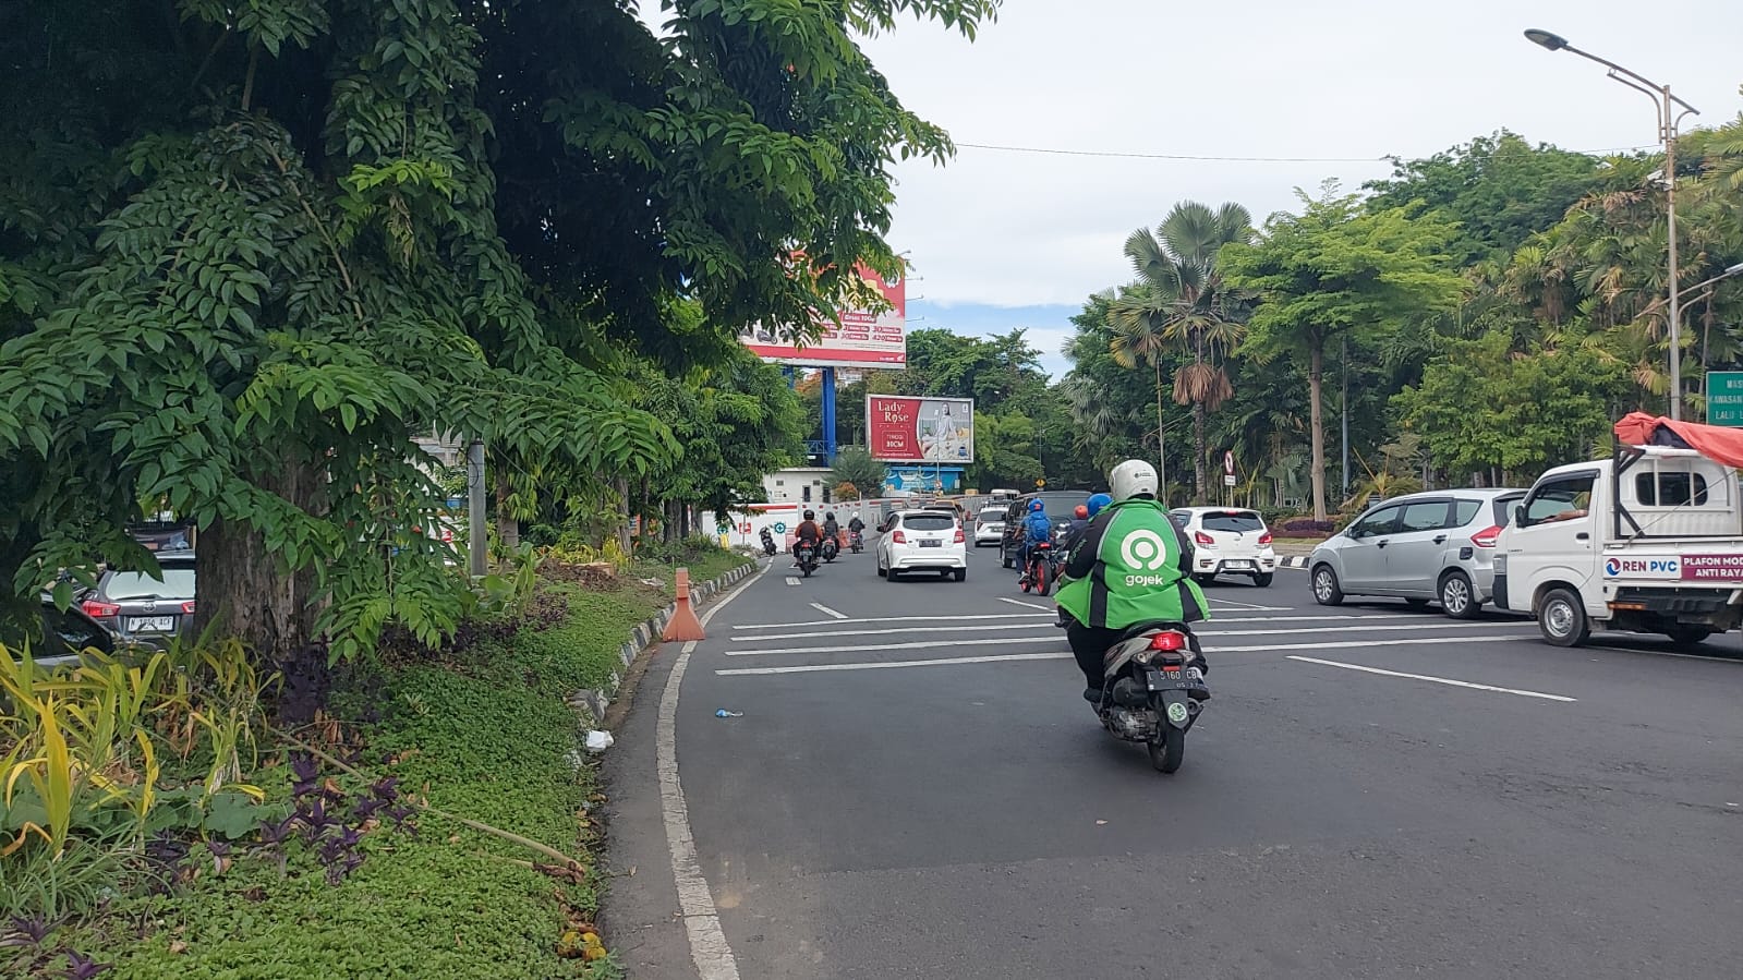
{"label": "curved white edge line beside the left curb and traffic cone", "polygon": [[[763,577],[774,565],[763,565],[755,574],[744,577],[744,584],[720,596],[702,616],[702,626],[716,612]],[[793,579],[788,579],[791,582]],[[659,724],[655,725],[654,767],[659,772],[661,816],[666,821],[666,847],[671,851],[671,877],[678,888],[678,910],[683,912],[683,929],[690,938],[690,959],[695,961],[695,973],[701,980],[739,980],[739,964],[732,959],[732,947],[727,945],[727,933],[720,928],[720,914],[715,909],[715,896],[708,891],[708,875],[695,856],[695,835],[690,832],[690,807],[683,800],[683,783],[678,779],[678,689],[683,685],[683,671],[690,664],[690,652],[695,640],[683,645],[678,659],[666,677],[666,691],[659,699]]]}

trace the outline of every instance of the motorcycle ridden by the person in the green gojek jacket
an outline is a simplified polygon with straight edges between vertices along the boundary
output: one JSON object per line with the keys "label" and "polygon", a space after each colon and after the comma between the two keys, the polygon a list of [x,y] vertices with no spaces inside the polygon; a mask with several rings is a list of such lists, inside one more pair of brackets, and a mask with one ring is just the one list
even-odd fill
{"label": "motorcycle ridden by the person in the green gojek jacket", "polygon": [[1180,769],[1187,731],[1210,698],[1194,659],[1192,640],[1173,623],[1133,626],[1103,657],[1096,717],[1114,738],[1149,746],[1161,772]]}

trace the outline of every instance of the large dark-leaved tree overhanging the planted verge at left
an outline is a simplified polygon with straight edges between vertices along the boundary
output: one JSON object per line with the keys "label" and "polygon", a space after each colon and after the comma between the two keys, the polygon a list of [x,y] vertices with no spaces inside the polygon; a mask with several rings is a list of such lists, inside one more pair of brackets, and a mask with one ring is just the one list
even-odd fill
{"label": "large dark-leaved tree overhanging the planted verge at left", "polygon": [[950,141],[856,37],[997,2],[666,0],[664,38],[580,0],[12,7],[0,574],[28,603],[148,565],[124,527],[164,499],[204,528],[200,623],[277,659],[453,626],[413,434],[654,471],[678,443],[615,344],[716,363],[894,272],[889,164]]}

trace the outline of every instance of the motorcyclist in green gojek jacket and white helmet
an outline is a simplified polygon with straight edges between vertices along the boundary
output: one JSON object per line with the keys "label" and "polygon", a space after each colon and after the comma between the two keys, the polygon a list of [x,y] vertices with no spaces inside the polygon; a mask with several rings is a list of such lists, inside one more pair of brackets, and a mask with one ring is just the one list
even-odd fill
{"label": "motorcyclist in green gojek jacket and white helmet", "polygon": [[[1156,467],[1129,459],[1109,474],[1114,502],[1089,523],[1058,591],[1065,636],[1084,671],[1084,698],[1100,701],[1107,649],[1140,623],[1210,619],[1210,603],[1192,581],[1192,546],[1156,499]],[[1197,636],[1192,666],[1206,670]],[[1208,698],[1208,692],[1199,694]]]}

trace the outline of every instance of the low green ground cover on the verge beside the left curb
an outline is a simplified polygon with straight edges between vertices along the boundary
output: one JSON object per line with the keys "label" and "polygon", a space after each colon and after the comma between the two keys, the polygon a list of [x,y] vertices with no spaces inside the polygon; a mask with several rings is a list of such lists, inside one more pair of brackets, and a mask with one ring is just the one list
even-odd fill
{"label": "low green ground cover on the verge beside the left curb", "polygon": [[[718,549],[682,558],[695,582],[748,561]],[[174,888],[117,896],[101,915],[61,924],[24,975],[59,977],[64,950],[77,949],[101,950],[112,964],[103,977],[115,980],[621,977],[608,954],[580,956],[601,900],[589,816],[600,797],[565,698],[621,670],[627,633],[669,602],[640,579],[669,581],[671,567],[638,563],[617,588],[547,579],[544,612],[523,628],[483,630],[462,652],[385,657],[340,699],[371,720],[329,727],[347,734],[328,752],[370,779],[394,778],[403,799],[572,854],[579,872],[546,874],[533,863],[547,858],[429,811],[406,830],[385,818],[364,830],[336,884],[331,839],[192,842],[173,861]],[[286,752],[265,755],[249,779],[275,814],[315,799],[354,814],[371,792],[338,767],[310,779]],[[347,820],[364,825],[342,818],[335,837]]]}

